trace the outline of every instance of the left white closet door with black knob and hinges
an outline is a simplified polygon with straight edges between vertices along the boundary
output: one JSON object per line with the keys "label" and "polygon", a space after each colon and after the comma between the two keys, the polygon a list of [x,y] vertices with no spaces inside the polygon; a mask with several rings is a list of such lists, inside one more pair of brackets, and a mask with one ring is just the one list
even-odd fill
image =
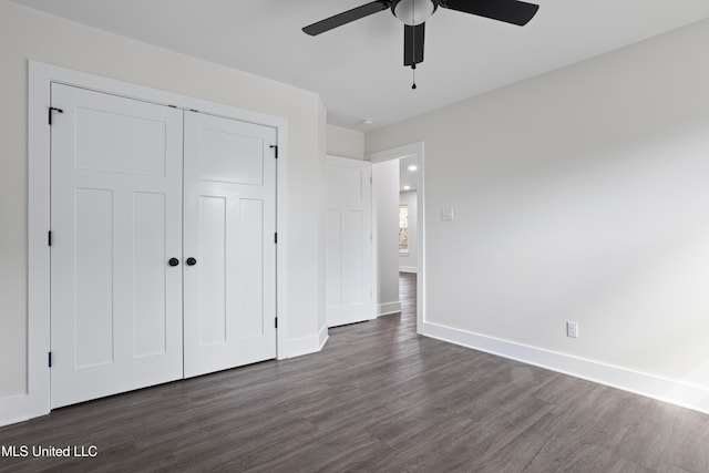
{"label": "left white closet door with black knob and hinges", "polygon": [[182,111],[53,84],[52,408],[182,378]]}

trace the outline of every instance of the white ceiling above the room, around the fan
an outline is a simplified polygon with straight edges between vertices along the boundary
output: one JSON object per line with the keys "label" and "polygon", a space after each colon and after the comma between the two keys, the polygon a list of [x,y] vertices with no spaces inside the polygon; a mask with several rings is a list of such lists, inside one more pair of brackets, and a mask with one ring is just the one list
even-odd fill
{"label": "white ceiling above the room, around the fan", "polygon": [[12,1],[317,92],[328,123],[362,131],[709,18],[707,0],[537,0],[522,28],[439,9],[411,90],[388,10],[319,37],[300,30],[369,0]]}

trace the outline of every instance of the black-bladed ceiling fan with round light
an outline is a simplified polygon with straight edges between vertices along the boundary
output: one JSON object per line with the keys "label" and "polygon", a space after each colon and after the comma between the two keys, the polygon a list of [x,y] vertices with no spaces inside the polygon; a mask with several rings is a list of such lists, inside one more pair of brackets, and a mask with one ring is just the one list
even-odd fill
{"label": "black-bladed ceiling fan with round light", "polygon": [[415,69],[418,63],[423,62],[425,20],[439,7],[520,27],[532,20],[540,9],[537,4],[517,0],[377,0],[309,24],[302,31],[315,37],[354,20],[391,9],[393,16],[404,23],[403,65],[411,65],[412,69]]}

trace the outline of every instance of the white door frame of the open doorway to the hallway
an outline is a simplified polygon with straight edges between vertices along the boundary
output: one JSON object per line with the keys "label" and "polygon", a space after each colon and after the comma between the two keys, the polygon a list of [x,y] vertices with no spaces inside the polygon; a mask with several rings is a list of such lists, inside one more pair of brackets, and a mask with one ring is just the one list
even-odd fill
{"label": "white door frame of the open doorway to the hallway", "polygon": [[[377,153],[367,155],[367,160],[372,164],[383,163],[387,161],[399,161],[402,157],[418,156],[419,167],[419,187],[417,188],[417,233],[418,233],[418,248],[417,248],[417,263],[419,270],[417,274],[417,333],[423,335],[423,322],[425,318],[425,200],[424,200],[424,146],[423,142],[415,142],[403,146],[398,146],[391,150],[384,150]],[[377,179],[372,182],[372,194],[374,194],[374,186],[377,186]],[[377,260],[377,251],[372,250],[372,291],[373,300],[379,298],[378,287],[379,280],[377,278],[377,267],[379,261]],[[373,302],[374,305],[377,302]]]}

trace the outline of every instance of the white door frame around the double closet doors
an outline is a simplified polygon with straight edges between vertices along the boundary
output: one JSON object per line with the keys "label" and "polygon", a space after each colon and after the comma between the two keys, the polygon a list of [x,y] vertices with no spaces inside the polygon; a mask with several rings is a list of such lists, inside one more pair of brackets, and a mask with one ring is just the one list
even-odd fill
{"label": "white door frame around the double closet doors", "polygon": [[53,82],[160,105],[197,110],[206,114],[276,128],[276,144],[278,146],[276,230],[280,234],[276,247],[276,316],[279,322],[276,331],[276,352],[277,357],[286,356],[285,343],[287,340],[285,337],[279,337],[279,333],[288,332],[288,315],[286,313],[288,238],[285,232],[288,202],[285,198],[287,196],[287,179],[282,178],[288,175],[287,120],[30,60],[28,83],[28,373],[27,397],[24,405],[22,405],[27,418],[44,415],[51,411],[51,382],[48,362],[51,347],[50,248],[48,245],[51,222],[51,134],[48,113],[51,106],[51,84]]}

